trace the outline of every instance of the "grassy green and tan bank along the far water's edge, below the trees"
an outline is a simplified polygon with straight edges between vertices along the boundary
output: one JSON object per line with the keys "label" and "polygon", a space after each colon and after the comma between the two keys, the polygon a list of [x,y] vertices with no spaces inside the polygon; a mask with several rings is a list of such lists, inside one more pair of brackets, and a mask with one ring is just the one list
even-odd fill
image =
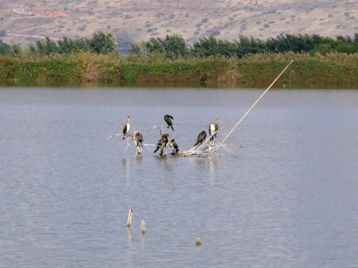
{"label": "grassy green and tan bank along the far water's edge, below the trees", "polygon": [[161,57],[123,57],[90,53],[0,57],[0,81],[116,83],[176,82],[221,86],[271,83],[294,60],[279,82],[287,85],[357,85],[358,54],[255,54],[242,59],[206,58],[170,61]]}

